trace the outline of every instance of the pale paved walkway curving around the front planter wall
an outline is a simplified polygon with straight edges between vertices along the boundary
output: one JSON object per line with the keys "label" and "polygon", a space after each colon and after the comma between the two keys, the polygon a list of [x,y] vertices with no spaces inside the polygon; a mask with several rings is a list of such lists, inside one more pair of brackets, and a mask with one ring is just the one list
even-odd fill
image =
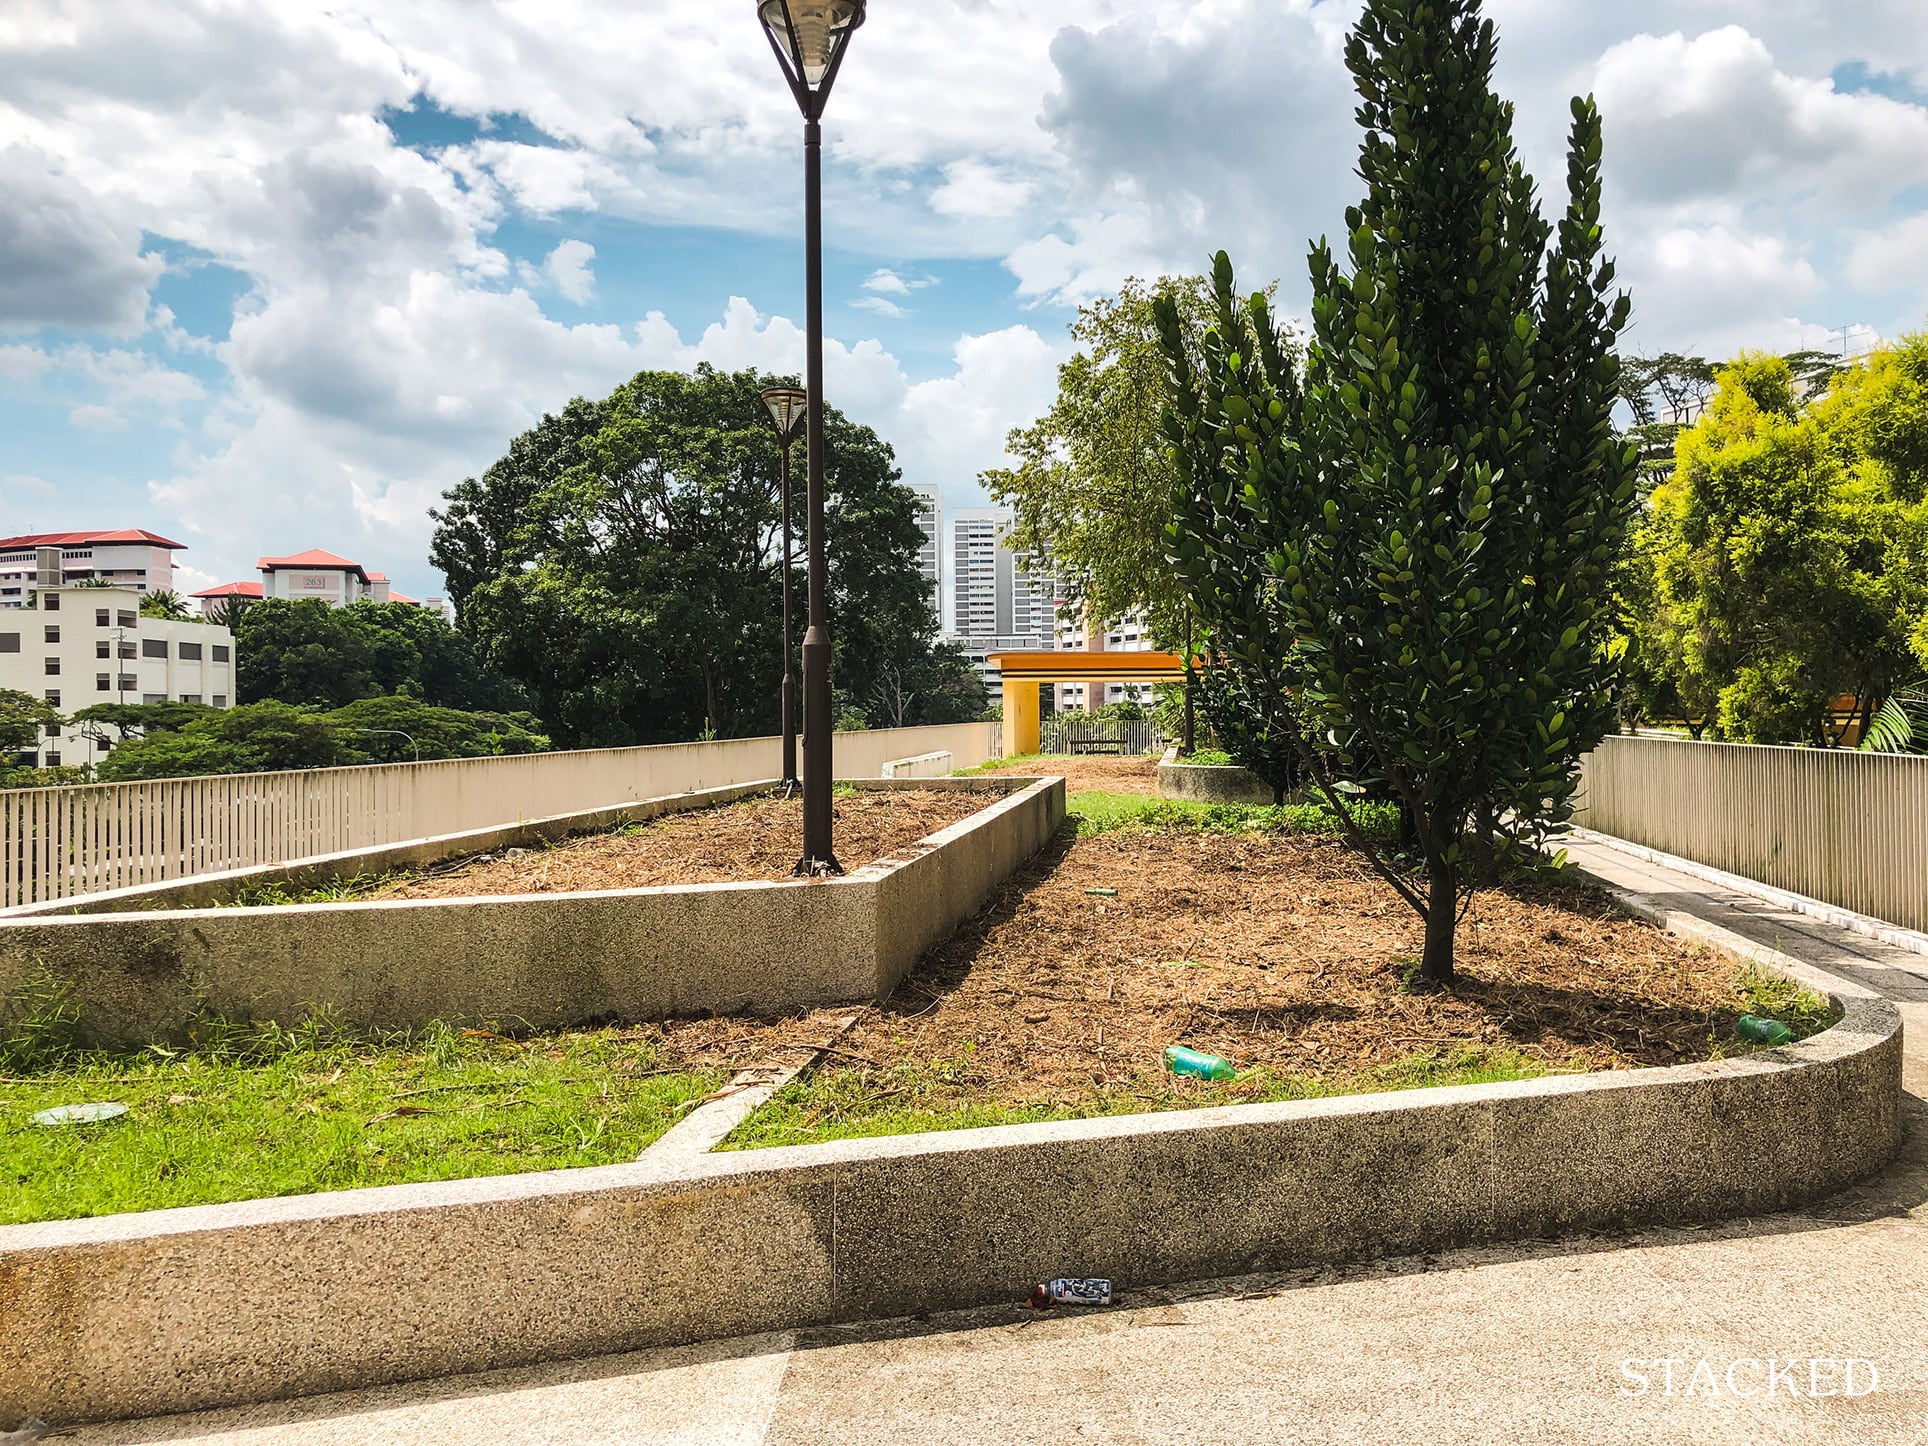
{"label": "pale paved walkway curving around the front planter wall", "polygon": [[[66,1438],[1928,1446],[1928,956],[1600,844],[1571,852],[1627,889],[1895,999],[1911,1101],[1893,1168],[1808,1211],[1704,1230],[1138,1292],[1084,1317],[987,1309],[762,1336]],[[1772,1128],[1760,1149],[1774,1149]],[[1810,1367],[1814,1357],[1824,1363]],[[1857,1365],[1853,1388],[1866,1394],[1812,1398],[1843,1388],[1843,1367],[1826,1361],[1849,1357],[1872,1363],[1880,1388],[1866,1392],[1868,1367]],[[1789,1359],[1801,1365],[1789,1371]],[[1735,1361],[1745,1398],[1729,1394]],[[1645,1394],[1629,1394],[1629,1369]]]}

